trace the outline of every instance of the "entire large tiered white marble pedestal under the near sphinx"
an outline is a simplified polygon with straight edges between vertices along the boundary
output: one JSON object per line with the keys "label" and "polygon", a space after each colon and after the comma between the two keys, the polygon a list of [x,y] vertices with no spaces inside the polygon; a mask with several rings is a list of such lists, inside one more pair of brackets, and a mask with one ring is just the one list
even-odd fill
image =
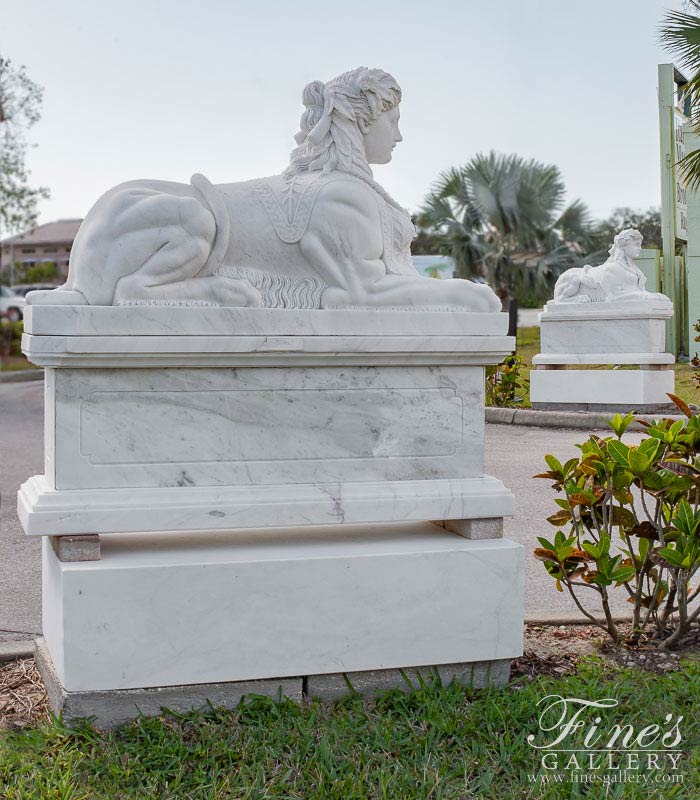
{"label": "entire large tiered white marble pedestal under the near sphinx", "polygon": [[18,508],[44,537],[56,703],[519,655],[513,498],[483,472],[506,326],[30,306],[46,464]]}

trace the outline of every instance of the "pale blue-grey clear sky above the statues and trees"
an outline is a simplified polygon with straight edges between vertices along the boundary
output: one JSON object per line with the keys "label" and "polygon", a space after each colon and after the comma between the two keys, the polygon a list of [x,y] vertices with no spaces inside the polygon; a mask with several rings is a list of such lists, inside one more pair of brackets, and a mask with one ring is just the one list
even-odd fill
{"label": "pale blue-grey clear sky above the statues and trees", "polygon": [[281,172],[315,79],[394,75],[404,141],[375,178],[417,210],[476,153],[557,165],[597,218],[660,203],[658,27],[680,0],[0,2],[0,53],[44,87],[40,222],[133,178]]}

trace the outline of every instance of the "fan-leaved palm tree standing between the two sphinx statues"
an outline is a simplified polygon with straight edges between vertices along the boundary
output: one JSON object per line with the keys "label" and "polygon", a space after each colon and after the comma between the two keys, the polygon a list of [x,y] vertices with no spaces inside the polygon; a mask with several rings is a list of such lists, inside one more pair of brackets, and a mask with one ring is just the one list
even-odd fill
{"label": "fan-leaved palm tree standing between the two sphinx statues", "polygon": [[516,289],[549,285],[600,248],[584,203],[563,208],[565,191],[552,164],[480,154],[438,177],[417,223],[455,259],[458,277],[485,280],[507,307]]}

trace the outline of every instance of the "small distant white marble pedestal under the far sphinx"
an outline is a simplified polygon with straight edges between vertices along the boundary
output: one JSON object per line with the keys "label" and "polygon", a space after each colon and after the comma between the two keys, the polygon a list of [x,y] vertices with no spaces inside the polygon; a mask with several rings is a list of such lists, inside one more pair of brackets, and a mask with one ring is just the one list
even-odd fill
{"label": "small distant white marble pedestal under the far sphinx", "polygon": [[[664,349],[672,316],[670,305],[657,302],[548,303],[539,315],[541,352],[532,359],[532,407],[671,411],[675,358]],[[608,366],[616,369],[592,369]]]}

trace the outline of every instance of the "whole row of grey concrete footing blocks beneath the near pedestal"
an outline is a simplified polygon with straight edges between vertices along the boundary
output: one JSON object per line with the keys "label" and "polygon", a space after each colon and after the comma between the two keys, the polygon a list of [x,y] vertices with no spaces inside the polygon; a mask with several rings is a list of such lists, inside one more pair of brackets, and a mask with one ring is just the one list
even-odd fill
{"label": "whole row of grey concrete footing blocks beneath the near pedestal", "polygon": [[93,725],[103,730],[128,723],[136,717],[158,716],[166,709],[175,713],[209,706],[235,709],[246,699],[260,695],[287,697],[298,702],[314,699],[334,701],[351,693],[372,697],[391,689],[410,691],[418,688],[421,681],[436,679],[444,686],[453,681],[474,689],[505,686],[510,677],[510,660],[500,659],[279,680],[68,692],[56,675],[43,637],[36,640],[35,660],[53,713],[56,716],[60,714],[68,724],[89,717]]}

